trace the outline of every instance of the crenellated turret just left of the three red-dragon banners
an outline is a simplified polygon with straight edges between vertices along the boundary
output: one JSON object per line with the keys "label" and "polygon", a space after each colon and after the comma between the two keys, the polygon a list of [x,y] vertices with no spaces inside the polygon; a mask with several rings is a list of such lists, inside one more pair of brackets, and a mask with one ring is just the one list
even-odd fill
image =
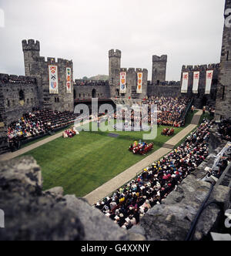
{"label": "crenellated turret just left of the three red-dragon banners", "polygon": [[152,56],[152,86],[159,86],[166,82],[166,66],[168,56]]}

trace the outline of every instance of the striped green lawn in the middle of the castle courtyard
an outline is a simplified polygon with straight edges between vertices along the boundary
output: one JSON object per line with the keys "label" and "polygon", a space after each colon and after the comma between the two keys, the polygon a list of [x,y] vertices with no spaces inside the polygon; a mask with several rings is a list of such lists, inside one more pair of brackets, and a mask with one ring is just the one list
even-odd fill
{"label": "striped green lawn in the middle of the castle courtyard", "polygon": [[[191,122],[192,116],[193,113],[189,113],[186,124]],[[158,128],[158,136],[150,153],[169,140],[169,137],[161,135],[164,128]],[[182,129],[177,128],[175,134]],[[134,155],[128,150],[130,144],[142,139],[145,132],[115,133],[119,137],[112,138],[109,132],[81,132],[72,139],[60,137],[25,155],[34,157],[42,167],[44,190],[60,186],[65,194],[83,197],[147,157]]]}

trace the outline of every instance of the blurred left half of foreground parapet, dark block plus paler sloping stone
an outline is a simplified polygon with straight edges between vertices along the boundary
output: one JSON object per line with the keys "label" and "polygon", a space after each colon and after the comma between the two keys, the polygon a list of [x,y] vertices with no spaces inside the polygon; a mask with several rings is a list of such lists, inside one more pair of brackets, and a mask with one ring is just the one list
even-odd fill
{"label": "blurred left half of foreground parapet, dark block plus paler sloping stone", "polygon": [[145,240],[130,234],[62,187],[42,191],[42,171],[32,157],[3,162],[0,167],[0,209],[5,228],[0,240],[129,241]]}

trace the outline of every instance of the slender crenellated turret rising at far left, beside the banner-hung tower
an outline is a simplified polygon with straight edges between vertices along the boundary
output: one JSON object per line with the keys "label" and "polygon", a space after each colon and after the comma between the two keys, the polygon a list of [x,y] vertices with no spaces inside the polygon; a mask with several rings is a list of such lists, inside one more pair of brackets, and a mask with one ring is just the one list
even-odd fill
{"label": "slender crenellated turret rising at far left, beside the banner-hung tower", "polygon": [[36,75],[32,70],[35,64],[35,57],[39,57],[40,54],[40,43],[39,41],[29,39],[22,41],[22,50],[24,53],[24,63],[25,63],[25,76]]}

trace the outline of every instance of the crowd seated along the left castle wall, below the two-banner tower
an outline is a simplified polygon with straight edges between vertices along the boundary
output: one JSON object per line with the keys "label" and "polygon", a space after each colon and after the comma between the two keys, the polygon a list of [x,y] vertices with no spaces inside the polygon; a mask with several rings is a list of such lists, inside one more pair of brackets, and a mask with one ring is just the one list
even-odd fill
{"label": "crowd seated along the left castle wall, below the two-banner tower", "polygon": [[20,120],[8,126],[8,140],[11,143],[52,132],[71,125],[77,116],[68,111],[52,110],[36,110],[32,113],[26,113]]}

